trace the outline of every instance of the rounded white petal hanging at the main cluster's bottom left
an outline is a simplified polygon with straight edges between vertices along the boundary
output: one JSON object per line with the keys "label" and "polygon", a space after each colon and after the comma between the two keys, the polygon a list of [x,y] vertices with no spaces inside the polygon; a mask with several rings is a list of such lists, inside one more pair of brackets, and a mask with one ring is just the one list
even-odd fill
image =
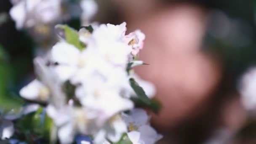
{"label": "rounded white petal hanging at the main cluster's bottom left", "polygon": [[73,123],[61,126],[58,131],[58,137],[61,144],[71,144],[74,140],[75,133]]}

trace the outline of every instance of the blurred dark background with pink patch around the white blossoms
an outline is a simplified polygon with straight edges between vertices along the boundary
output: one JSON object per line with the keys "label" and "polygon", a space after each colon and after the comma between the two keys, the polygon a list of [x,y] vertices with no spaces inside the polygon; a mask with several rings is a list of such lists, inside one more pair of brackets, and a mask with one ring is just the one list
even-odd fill
{"label": "blurred dark background with pink patch around the white blossoms", "polygon": [[[128,32],[146,35],[139,59],[150,65],[136,72],[155,84],[162,103],[159,114],[152,113],[164,135],[159,144],[256,144],[255,115],[238,92],[243,74],[256,66],[256,1],[96,2],[94,21],[126,21]],[[0,1],[0,95],[19,104],[20,88],[35,77],[32,59],[45,50],[29,32],[16,30],[11,7]],[[79,19],[65,23],[81,26]]]}

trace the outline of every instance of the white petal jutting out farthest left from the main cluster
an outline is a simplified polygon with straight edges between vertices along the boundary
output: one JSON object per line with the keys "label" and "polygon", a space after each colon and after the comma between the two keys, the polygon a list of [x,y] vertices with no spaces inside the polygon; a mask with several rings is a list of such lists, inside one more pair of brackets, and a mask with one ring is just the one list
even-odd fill
{"label": "white petal jutting out farthest left from the main cluster", "polygon": [[33,80],[21,89],[20,95],[29,100],[40,100],[40,90],[46,88],[39,80]]}

